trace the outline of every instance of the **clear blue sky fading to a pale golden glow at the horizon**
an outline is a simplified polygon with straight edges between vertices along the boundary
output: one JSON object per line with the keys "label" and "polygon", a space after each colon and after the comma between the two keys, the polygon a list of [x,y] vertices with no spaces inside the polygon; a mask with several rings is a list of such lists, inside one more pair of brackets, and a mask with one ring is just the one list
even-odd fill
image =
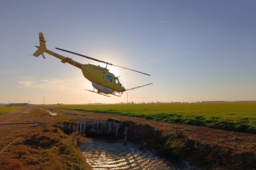
{"label": "clear blue sky fading to a pale golden glow at the horizon", "polygon": [[0,5],[0,103],[118,103],[93,90],[80,69],[45,54],[55,47],[108,65],[128,102],[256,100],[255,0],[6,0]]}

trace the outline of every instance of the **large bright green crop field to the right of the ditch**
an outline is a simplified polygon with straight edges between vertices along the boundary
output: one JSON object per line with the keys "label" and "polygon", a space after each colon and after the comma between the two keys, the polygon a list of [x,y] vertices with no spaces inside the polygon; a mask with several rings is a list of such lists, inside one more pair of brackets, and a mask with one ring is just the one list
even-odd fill
{"label": "large bright green crop field to the right of the ditch", "polygon": [[256,134],[256,103],[58,105],[54,107],[136,116],[156,121]]}

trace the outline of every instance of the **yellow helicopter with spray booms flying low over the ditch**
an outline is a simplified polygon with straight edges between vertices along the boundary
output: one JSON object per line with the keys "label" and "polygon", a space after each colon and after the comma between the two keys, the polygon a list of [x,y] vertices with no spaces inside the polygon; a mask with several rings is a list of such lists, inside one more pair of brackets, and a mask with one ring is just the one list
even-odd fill
{"label": "yellow helicopter with spray booms flying low over the ditch", "polygon": [[[56,48],[58,50],[66,51],[66,52],[69,52],[69,53],[72,53],[72,54],[76,54],[76,55],[79,55],[81,57],[85,57],[87,59],[92,59],[92,60],[97,61],[97,62],[103,62],[103,63],[106,64],[106,67],[103,68],[103,67],[100,67],[99,65],[97,66],[97,65],[92,65],[92,64],[81,64],[79,62],[74,61],[73,59],[71,59],[69,57],[64,57],[60,54],[57,54],[57,53],[54,53],[52,51],[47,50],[45,42],[46,41],[44,40],[44,34],[42,32],[39,33],[40,46],[35,46],[36,48],[38,48],[38,50],[35,51],[33,56],[38,57],[38,56],[42,55],[44,57],[44,52],[46,52],[46,53],[48,53],[48,54],[50,54],[54,57],[57,57],[58,59],[61,59],[61,62],[63,62],[63,63],[67,62],[67,63],[81,69],[84,77],[87,78],[90,82],[92,82],[92,85],[93,85],[93,91],[87,90],[87,89],[84,89],[84,90],[87,90],[87,91],[90,91],[90,92],[93,92],[93,93],[96,93],[96,94],[101,94],[103,96],[108,96],[107,94],[112,94],[112,95],[115,95],[115,96],[121,96],[121,94],[124,91],[128,91],[128,90],[132,90],[132,89],[135,89],[135,88],[140,88],[140,87],[146,86],[146,85],[142,85],[142,86],[138,86],[138,87],[134,87],[134,88],[125,89],[121,79],[119,79],[119,77],[115,77],[115,75],[110,73],[109,70],[107,69],[108,65],[113,65],[113,64],[108,63],[108,62],[104,62],[104,61],[101,61],[101,60],[98,60],[98,59],[94,59],[94,58],[91,58],[91,57],[87,57],[87,56],[84,56],[84,55],[81,55],[81,54],[78,54],[78,53],[74,53],[74,52],[71,52],[71,51],[67,51],[67,50],[64,50],[64,49],[61,49],[61,48]],[[44,59],[45,59],[45,57],[44,57]],[[121,67],[121,66],[118,66],[118,65],[114,65],[114,66]],[[121,68],[125,68],[125,67],[121,67]],[[132,69],[129,69],[129,68],[125,68],[125,69],[135,71],[135,70],[132,70]],[[142,73],[140,71],[136,71],[136,72]],[[142,73],[142,74],[145,74],[145,73]],[[150,76],[149,74],[145,74],[145,75]],[[151,84],[153,84],[153,83],[150,83],[150,84],[147,84],[147,85],[151,85]],[[95,89],[97,91],[94,91]],[[110,96],[108,96],[108,97],[110,97]]]}

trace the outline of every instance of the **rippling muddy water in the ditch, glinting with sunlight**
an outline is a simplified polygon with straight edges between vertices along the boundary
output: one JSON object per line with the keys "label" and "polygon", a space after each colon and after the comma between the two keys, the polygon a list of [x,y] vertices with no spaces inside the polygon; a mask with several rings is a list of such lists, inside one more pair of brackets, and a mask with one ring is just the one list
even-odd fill
{"label": "rippling muddy water in the ditch, glinting with sunlight", "polygon": [[102,139],[81,143],[80,149],[93,170],[196,170],[186,163],[168,164],[154,152],[128,142],[107,143]]}

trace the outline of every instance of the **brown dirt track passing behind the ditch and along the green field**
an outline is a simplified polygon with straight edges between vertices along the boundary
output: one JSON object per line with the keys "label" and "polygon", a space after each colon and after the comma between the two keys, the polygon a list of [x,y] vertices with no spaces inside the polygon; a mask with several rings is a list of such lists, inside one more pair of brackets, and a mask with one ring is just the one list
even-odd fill
{"label": "brown dirt track passing behind the ditch and along the green field", "polygon": [[[218,161],[215,159],[221,159],[222,161],[225,161],[227,158],[224,158],[223,156],[233,156],[234,158],[232,157],[232,159],[234,160],[227,159],[227,161],[234,162],[226,163],[234,164],[235,167],[236,164],[237,166],[241,166],[239,164],[242,164],[241,162],[244,160],[245,162],[247,162],[247,159],[250,159],[249,161],[256,161],[256,135],[236,133],[227,130],[217,130],[206,127],[183,125],[177,123],[149,121],[143,118],[111,115],[104,113],[88,113],[64,109],[59,109],[56,111],[60,113],[58,114],[58,116],[50,116],[47,111],[41,110],[38,107],[34,107],[25,108],[19,111],[14,111],[12,113],[0,115],[0,124],[15,124],[0,126],[0,150],[2,150],[15,139],[22,136],[29,137],[30,133],[35,132],[37,129],[40,129],[40,127],[33,127],[33,125],[31,125],[35,122],[49,122],[49,125],[54,125],[56,122],[74,122],[81,119],[105,121],[108,118],[112,118],[121,122],[132,121],[136,124],[148,124],[154,127],[156,130],[168,131],[172,132],[173,134],[179,133],[183,139],[195,141],[195,143],[192,143],[192,146],[195,147],[195,154],[205,154],[208,157],[210,156],[209,158],[207,157],[208,161]],[[76,113],[83,113],[83,115],[74,116],[76,115]],[[67,116],[67,114],[69,114],[69,116]],[[17,125],[17,123],[23,122],[29,124]],[[2,153],[2,155],[0,154],[0,159],[3,159],[5,157],[5,154],[17,154],[12,153],[12,148],[14,147],[17,146],[12,144],[8,149],[6,149],[5,152]],[[196,148],[198,149],[196,150]],[[216,155],[218,156],[218,158],[215,158]],[[214,160],[212,160],[213,158]],[[240,159],[241,162],[239,162]],[[249,163],[251,164],[250,166],[253,166],[253,163]]]}

